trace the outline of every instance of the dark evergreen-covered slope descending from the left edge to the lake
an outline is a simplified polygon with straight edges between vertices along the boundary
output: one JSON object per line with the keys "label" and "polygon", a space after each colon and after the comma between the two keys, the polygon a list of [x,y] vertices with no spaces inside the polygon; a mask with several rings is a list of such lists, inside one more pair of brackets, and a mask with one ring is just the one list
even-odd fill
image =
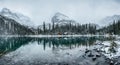
{"label": "dark evergreen-covered slope descending from the left edge to the lake", "polygon": [[15,20],[0,15],[0,34],[27,35],[34,34],[34,32]]}

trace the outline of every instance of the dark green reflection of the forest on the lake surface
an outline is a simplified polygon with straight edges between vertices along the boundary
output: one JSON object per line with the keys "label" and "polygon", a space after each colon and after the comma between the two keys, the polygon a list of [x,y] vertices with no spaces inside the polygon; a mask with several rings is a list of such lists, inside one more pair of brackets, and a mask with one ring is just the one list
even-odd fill
{"label": "dark green reflection of the forest on the lake surface", "polygon": [[30,42],[37,42],[38,45],[43,45],[43,50],[46,47],[68,47],[69,49],[79,46],[90,46],[93,45],[96,40],[104,41],[108,40],[106,37],[51,37],[51,38],[33,38],[33,37],[1,37],[0,38],[0,54],[15,51],[21,46],[27,45]]}

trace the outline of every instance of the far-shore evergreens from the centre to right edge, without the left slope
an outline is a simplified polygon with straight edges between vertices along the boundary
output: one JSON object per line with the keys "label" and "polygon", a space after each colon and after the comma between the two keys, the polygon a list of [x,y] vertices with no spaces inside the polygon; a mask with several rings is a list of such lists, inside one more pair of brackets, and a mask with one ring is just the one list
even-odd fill
{"label": "far-shore evergreens from the centre to right edge, without the left slope", "polygon": [[79,24],[79,23],[67,23],[64,25],[52,23],[43,23],[43,27],[38,27],[37,34],[98,34],[98,35],[119,35],[120,34],[120,21],[114,21],[108,26],[98,28],[96,24]]}

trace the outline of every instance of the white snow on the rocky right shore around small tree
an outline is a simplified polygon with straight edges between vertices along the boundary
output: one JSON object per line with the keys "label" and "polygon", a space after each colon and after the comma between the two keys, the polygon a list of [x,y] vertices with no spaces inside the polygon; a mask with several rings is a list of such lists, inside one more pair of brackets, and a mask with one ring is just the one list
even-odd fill
{"label": "white snow on the rocky right shore around small tree", "polygon": [[[103,51],[102,53],[108,57],[108,58],[114,58],[120,56],[120,41],[114,41],[116,43],[116,47],[112,45],[112,41],[104,41],[101,44],[99,44],[99,49]],[[111,52],[110,49],[113,47],[112,50],[115,50],[115,52]]]}

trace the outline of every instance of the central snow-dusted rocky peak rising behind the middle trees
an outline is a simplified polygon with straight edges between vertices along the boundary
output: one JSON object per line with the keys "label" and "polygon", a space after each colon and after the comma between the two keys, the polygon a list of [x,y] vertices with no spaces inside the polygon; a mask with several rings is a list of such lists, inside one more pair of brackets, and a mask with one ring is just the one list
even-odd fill
{"label": "central snow-dusted rocky peak rising behind the middle trees", "polygon": [[52,17],[52,22],[57,24],[65,24],[70,22],[74,23],[75,21],[70,19],[68,16],[58,12]]}

